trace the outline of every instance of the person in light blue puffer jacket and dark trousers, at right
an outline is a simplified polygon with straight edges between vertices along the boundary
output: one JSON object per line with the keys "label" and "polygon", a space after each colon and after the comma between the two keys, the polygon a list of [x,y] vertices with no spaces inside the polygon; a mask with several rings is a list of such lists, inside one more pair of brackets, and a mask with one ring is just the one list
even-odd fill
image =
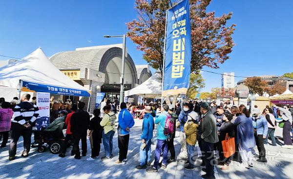
{"label": "person in light blue puffer jacket and dark trousers, at right", "polygon": [[266,159],[266,149],[264,146],[264,139],[268,134],[268,122],[261,114],[252,110],[252,124],[254,128],[254,138],[256,141],[257,150],[259,152],[259,159],[256,159],[258,162],[268,162]]}

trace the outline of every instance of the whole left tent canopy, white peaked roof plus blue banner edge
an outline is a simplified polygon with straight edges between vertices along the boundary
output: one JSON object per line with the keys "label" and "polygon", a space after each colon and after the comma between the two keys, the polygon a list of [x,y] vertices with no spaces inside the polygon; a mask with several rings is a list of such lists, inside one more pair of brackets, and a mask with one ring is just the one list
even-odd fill
{"label": "whole left tent canopy, white peaked roof plus blue banner edge", "polygon": [[[20,86],[20,80],[22,84]],[[69,96],[90,96],[90,91],[57,69],[38,48],[23,60],[0,68],[0,87],[27,92],[47,92]]]}

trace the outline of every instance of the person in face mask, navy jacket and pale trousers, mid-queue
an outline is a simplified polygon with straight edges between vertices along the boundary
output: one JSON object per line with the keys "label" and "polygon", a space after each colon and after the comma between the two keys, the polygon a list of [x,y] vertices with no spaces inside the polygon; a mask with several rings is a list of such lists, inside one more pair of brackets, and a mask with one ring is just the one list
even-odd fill
{"label": "person in face mask, navy jacket and pale trousers, mid-queue", "polygon": [[184,132],[184,125],[188,119],[188,114],[191,111],[189,110],[189,104],[184,103],[183,105],[183,110],[181,111],[180,115],[178,116],[178,120],[180,122],[180,143],[181,143],[181,150],[180,154],[178,155],[181,159],[188,159],[188,154],[187,154],[187,145],[186,145],[186,135]]}

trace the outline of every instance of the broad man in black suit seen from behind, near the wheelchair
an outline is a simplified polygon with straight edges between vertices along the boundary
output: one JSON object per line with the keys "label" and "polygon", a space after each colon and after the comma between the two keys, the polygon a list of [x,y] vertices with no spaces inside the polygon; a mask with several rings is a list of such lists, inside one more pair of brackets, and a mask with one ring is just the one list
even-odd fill
{"label": "broad man in black suit seen from behind, near the wheelchair", "polygon": [[84,102],[78,103],[78,110],[70,118],[70,132],[72,133],[73,152],[75,154],[74,159],[81,159],[80,140],[82,140],[82,155],[85,157],[87,153],[86,136],[90,117],[88,112],[84,111],[84,106]]}

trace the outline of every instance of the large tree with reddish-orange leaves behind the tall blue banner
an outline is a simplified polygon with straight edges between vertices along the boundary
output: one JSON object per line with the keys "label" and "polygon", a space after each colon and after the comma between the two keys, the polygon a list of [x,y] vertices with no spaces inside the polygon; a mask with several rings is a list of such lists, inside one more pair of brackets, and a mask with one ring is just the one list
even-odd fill
{"label": "large tree with reddish-orange leaves behind the tall blue banner", "polygon": [[[174,4],[179,2],[175,0]],[[191,73],[203,66],[219,68],[219,63],[228,60],[234,42],[231,35],[235,24],[227,25],[232,13],[215,16],[207,12],[211,0],[189,0],[191,27]],[[127,36],[144,52],[147,63],[163,71],[166,10],[169,0],[135,0],[137,19],[128,23]]]}

